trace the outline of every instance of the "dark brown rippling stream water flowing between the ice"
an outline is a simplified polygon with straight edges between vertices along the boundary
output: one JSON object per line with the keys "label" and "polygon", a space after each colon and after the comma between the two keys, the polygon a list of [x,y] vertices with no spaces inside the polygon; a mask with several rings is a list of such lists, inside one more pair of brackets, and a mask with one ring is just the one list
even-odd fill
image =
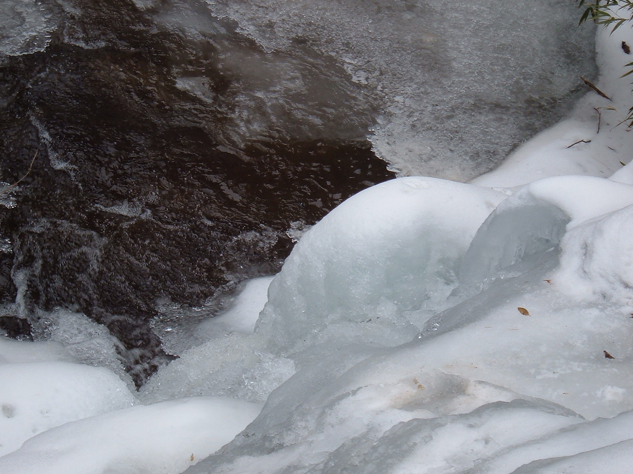
{"label": "dark brown rippling stream water flowing between the ice", "polygon": [[[386,93],[308,37],[266,49],[198,0],[4,1],[0,179],[35,157],[0,197],[11,336],[29,331],[16,317],[83,312],[142,384],[169,358],[156,301],[199,305],[277,272],[288,229],[394,177],[367,138]],[[506,149],[579,90],[522,99],[531,125]]]}

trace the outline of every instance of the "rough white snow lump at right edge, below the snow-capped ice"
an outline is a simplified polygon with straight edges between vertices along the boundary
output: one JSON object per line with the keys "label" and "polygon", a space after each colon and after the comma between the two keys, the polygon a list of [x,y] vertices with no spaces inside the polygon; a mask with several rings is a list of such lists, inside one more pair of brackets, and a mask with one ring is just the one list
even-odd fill
{"label": "rough white snow lump at right edge, below the snow-capped ice", "polygon": [[556,286],[579,300],[633,301],[633,205],[572,229],[561,243]]}

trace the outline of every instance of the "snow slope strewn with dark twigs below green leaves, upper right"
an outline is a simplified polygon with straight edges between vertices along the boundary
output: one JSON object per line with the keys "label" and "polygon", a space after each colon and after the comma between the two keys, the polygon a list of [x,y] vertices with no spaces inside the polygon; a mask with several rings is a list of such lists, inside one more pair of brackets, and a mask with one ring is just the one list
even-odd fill
{"label": "snow slope strewn with dark twigs below green leaves, upper right", "polygon": [[629,81],[620,78],[627,71],[624,65],[631,61],[622,42],[631,45],[632,40],[629,27],[606,34],[600,30],[596,37],[600,68],[596,85],[609,99],[587,89],[589,92],[569,118],[542,131],[497,169],[472,182],[513,187],[549,176],[579,174],[599,178],[613,175],[613,181],[633,184],[630,168],[622,169],[631,161],[631,148],[630,128],[621,123],[627,116],[632,94]]}

